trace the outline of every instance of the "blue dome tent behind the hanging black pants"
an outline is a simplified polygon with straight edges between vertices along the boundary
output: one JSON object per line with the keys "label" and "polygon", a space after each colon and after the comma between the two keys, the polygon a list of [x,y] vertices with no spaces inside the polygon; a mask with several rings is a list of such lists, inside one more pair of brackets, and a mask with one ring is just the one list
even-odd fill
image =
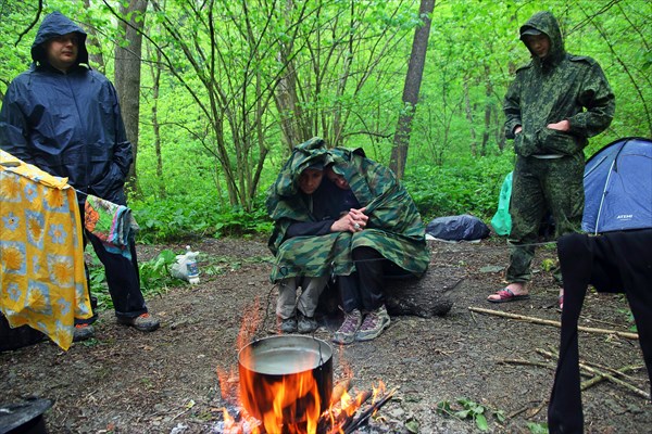
{"label": "blue dome tent behind the hanging black pants", "polygon": [[590,233],[652,228],[652,141],[616,140],[585,167],[581,229]]}

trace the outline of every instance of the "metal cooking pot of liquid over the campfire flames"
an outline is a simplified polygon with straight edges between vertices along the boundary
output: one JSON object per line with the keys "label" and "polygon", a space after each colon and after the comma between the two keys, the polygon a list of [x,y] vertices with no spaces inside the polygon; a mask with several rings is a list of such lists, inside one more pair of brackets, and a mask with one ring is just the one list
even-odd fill
{"label": "metal cooking pot of liquid over the campfire flames", "polygon": [[[246,345],[238,355],[240,395],[247,411],[258,420],[273,411],[274,396],[265,392],[291,383],[293,375],[310,373],[319,397],[319,413],[330,405],[333,347],[325,341],[302,335],[264,337]],[[302,422],[314,408],[314,396],[304,395],[283,408],[284,423]]]}

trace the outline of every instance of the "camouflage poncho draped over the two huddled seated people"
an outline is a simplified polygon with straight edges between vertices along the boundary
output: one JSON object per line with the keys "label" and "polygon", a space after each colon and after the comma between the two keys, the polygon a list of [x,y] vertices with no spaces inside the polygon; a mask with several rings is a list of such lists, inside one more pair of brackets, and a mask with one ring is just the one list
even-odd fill
{"label": "camouflage poncho draped over the two huddled seated people", "polygon": [[[301,171],[317,161],[333,163],[369,216],[365,230],[286,239],[294,221],[314,221],[298,194]],[[364,156],[362,150],[326,150],[314,138],[297,146],[267,194],[267,213],[275,221],[269,248],[276,255],[273,282],[293,276],[347,276],[354,271],[351,251],[359,246],[377,250],[406,271],[426,271],[429,252],[425,228],[416,205],[394,175]]]}

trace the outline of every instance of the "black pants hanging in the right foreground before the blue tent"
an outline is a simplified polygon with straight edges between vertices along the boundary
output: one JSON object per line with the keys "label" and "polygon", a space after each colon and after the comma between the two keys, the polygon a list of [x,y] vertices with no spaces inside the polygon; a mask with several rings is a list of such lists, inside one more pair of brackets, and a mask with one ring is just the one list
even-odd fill
{"label": "black pants hanging in the right foreground before the blue tent", "polygon": [[[578,322],[587,288],[627,294],[652,382],[652,229],[600,237],[569,234],[557,244],[564,277],[560,356],[548,406],[550,433],[582,433]],[[629,350],[629,349],[627,349]],[[652,392],[652,388],[651,388]]]}

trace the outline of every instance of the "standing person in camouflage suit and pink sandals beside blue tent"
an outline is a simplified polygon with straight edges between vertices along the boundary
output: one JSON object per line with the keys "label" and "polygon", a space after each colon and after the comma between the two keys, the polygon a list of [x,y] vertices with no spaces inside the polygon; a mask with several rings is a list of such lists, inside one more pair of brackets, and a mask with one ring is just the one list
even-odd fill
{"label": "standing person in camouflage suit and pink sandals beside blue tent", "polygon": [[[584,212],[584,149],[611,124],[615,99],[591,58],[569,54],[557,21],[538,12],[521,27],[531,62],[516,71],[503,110],[505,135],[514,139],[516,163],[510,214],[507,286],[491,303],[528,298],[526,283],[539,225],[550,212],[555,237],[580,229]],[[555,279],[561,284],[559,272]],[[560,290],[563,306],[563,288]]]}

